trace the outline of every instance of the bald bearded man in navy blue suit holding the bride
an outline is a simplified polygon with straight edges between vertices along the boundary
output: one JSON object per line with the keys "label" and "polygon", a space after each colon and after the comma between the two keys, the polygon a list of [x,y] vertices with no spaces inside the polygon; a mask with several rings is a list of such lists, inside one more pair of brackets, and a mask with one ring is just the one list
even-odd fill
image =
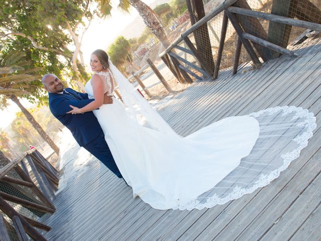
{"label": "bald bearded man in navy blue suit holding the bride", "polygon": [[[71,88],[64,89],[62,81],[54,74],[45,74],[42,83],[49,94],[49,108],[52,114],[67,127],[79,146],[100,160],[117,177],[122,178],[105,141],[104,133],[92,111],[83,114],[67,114],[71,107],[81,108],[94,99],[88,94]],[[111,96],[104,96],[104,104],[112,103]]]}

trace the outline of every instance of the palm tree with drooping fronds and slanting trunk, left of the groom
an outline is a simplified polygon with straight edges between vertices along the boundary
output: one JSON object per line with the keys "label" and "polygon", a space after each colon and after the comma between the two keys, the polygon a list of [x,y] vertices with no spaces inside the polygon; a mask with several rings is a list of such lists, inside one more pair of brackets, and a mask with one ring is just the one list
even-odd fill
{"label": "palm tree with drooping fronds and slanting trunk, left of the groom", "polygon": [[0,97],[2,97],[3,102],[6,102],[7,99],[14,101],[26,115],[30,124],[58,155],[59,148],[57,145],[18,98],[26,96],[26,94],[31,94],[39,87],[32,83],[38,80],[37,75],[30,74],[34,72],[35,69],[25,70],[24,67],[22,67],[23,64],[19,65],[24,56],[24,53],[16,52],[0,57]]}

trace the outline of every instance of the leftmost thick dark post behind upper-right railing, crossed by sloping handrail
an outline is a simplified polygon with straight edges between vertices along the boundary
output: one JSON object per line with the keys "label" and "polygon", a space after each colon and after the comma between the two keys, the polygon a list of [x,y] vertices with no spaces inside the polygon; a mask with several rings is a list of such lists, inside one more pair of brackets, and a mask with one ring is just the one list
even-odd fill
{"label": "leftmost thick dark post behind upper-right railing, crossed by sloping handrail", "polygon": [[[205,17],[203,0],[187,0],[187,8],[191,17],[191,24]],[[207,24],[202,25],[196,31],[194,31],[194,38],[197,50],[201,53],[208,66],[213,70],[215,69],[210,35],[207,28]]]}

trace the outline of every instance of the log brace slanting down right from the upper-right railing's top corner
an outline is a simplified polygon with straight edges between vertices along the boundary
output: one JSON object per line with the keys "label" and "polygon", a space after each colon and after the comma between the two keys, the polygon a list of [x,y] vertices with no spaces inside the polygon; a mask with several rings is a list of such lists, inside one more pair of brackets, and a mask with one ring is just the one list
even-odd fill
{"label": "log brace slanting down right from the upper-right railing's top corner", "polygon": [[229,10],[227,8],[225,9],[225,13],[226,13],[227,17],[229,17],[236,33],[238,34],[239,38],[241,39],[242,43],[244,44],[244,47],[245,47],[247,53],[249,54],[249,56],[251,57],[254,65],[257,68],[260,68],[262,66],[262,64],[261,64],[259,58],[256,56],[256,53],[255,53],[254,49],[252,48],[250,42],[247,39],[243,38],[242,34],[244,32],[243,32],[236,16],[234,14],[232,14],[231,12],[229,12]]}

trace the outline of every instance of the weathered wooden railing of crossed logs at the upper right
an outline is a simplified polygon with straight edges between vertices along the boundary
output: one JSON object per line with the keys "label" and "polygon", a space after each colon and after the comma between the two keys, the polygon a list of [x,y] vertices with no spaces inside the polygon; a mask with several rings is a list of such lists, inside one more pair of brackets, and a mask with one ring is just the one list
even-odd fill
{"label": "weathered wooden railing of crossed logs at the upper right", "polygon": [[[313,21],[315,22],[304,21],[302,20],[304,18],[301,18],[297,13],[288,14],[292,16],[290,18],[272,14],[273,11],[275,12],[273,5],[279,5],[278,1],[270,1],[272,5],[271,13],[253,11],[248,2],[251,1],[226,0],[185,31],[160,55],[179,81],[192,83],[194,80],[216,79],[218,77],[229,22],[232,24],[233,31],[238,37],[234,51],[233,74],[237,72],[239,66],[242,45],[256,68],[261,67],[262,60],[265,62],[275,58],[275,56],[278,57],[280,54],[290,57],[298,56],[293,51],[286,49],[288,36],[284,38],[286,41],[283,41],[282,44],[273,43],[275,42],[273,38],[275,40],[280,37],[276,34],[273,35],[273,31],[275,32],[275,29],[280,28],[279,26],[269,25],[269,31],[266,33],[259,20],[266,20],[269,23],[277,23],[282,26],[294,26],[321,32],[321,22],[319,21],[321,20],[321,12],[317,8],[315,9],[315,6],[307,0],[301,0],[301,2],[304,2],[303,4],[311,8],[311,11],[313,11]],[[283,2],[290,3],[291,1]],[[288,8],[293,8],[293,6]],[[302,6],[298,8],[302,8]],[[222,15],[223,18],[221,18]],[[294,19],[294,17],[301,18],[301,20]],[[216,23],[221,23],[220,37],[218,32],[214,31],[212,25],[209,24],[210,21],[212,23],[215,21]],[[214,41],[209,37],[210,32],[213,34],[212,39],[219,42],[215,61],[211,60],[213,58],[212,48],[215,46],[211,43]],[[281,37],[289,35],[289,33],[284,31],[281,34]]]}

